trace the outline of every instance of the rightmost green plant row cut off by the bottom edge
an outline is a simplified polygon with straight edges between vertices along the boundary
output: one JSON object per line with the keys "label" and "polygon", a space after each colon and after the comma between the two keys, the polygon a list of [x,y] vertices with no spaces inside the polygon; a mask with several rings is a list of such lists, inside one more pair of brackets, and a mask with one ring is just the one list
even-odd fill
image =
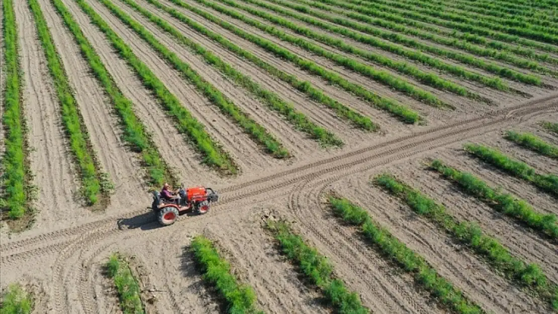
{"label": "rightmost green plant row cut off by the bottom edge", "polygon": [[328,199],[336,216],[343,219],[345,223],[358,227],[369,243],[402,270],[412,274],[417,286],[429,292],[441,306],[458,314],[485,313],[480,306],[467,299],[463,292],[454,287],[448,279],[440,276],[424,257],[413,252],[389,230],[374,221],[362,207],[342,197],[330,195]]}

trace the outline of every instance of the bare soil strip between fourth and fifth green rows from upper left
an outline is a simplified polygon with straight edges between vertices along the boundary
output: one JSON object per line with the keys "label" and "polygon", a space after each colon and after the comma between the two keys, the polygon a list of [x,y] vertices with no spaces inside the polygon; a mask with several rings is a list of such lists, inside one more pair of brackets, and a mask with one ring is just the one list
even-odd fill
{"label": "bare soil strip between fourth and fifth green rows from upper left", "polygon": [[114,32],[122,37],[122,40],[130,46],[136,56],[150,67],[151,71],[180,100],[182,105],[187,107],[191,114],[205,125],[206,131],[220,144],[223,144],[225,150],[239,165],[240,171],[261,170],[280,162],[264,154],[262,148],[252,141],[240,127],[220,113],[220,110],[198,93],[193,85],[182,79],[174,67],[167,64],[155,50],[151,49],[151,46],[129,30],[116,16],[113,16],[102,3],[97,0],[88,0],[88,4],[103,17],[103,20]]}

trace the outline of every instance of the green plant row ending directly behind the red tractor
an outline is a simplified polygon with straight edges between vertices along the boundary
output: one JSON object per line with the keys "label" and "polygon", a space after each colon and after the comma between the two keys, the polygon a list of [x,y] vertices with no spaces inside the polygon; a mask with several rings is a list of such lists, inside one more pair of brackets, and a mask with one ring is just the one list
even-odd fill
{"label": "green plant row ending directly behind the red tractor", "polygon": [[99,55],[85,38],[78,23],[75,22],[68,8],[61,0],[51,0],[59,15],[62,17],[66,27],[74,36],[76,44],[81,49],[81,54],[89,63],[90,69],[103,87],[105,94],[109,97],[110,102],[118,114],[119,122],[122,125],[122,138],[131,147],[132,151],[140,154],[143,166],[147,169],[148,181],[153,187],[161,186],[163,182],[174,182],[176,178],[172,176],[165,161],[162,160],[160,153],[153,144],[150,134],[147,133],[145,125],[133,111],[133,103],[122,94],[114,82],[112,76],[108,73],[103,61]]}

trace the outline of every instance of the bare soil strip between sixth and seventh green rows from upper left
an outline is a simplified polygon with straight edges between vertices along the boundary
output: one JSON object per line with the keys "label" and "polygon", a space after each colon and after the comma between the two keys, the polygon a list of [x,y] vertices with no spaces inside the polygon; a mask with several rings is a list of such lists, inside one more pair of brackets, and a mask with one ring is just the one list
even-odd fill
{"label": "bare soil strip between sixth and seventh green rows from upper left", "polygon": [[[252,80],[256,81],[256,83],[260,84],[264,88],[275,91],[283,99],[290,101],[295,108],[299,109],[302,113],[306,114],[307,117],[313,120],[316,124],[323,125],[325,128],[329,129],[330,131],[338,135],[341,139],[343,139],[345,144],[348,144],[349,146],[350,145],[354,146],[356,143],[362,143],[363,141],[370,142],[373,141],[374,139],[376,140],[378,139],[377,134],[360,132],[358,130],[355,130],[354,127],[352,127],[352,125],[350,125],[348,122],[345,122],[345,120],[341,120],[340,118],[338,118],[334,114],[333,110],[326,108],[322,104],[314,102],[313,100],[308,98],[305,94],[292,88],[290,85],[281,81],[280,79],[277,79],[274,76],[267,74],[266,71],[260,69],[256,65],[253,65],[252,62],[246,61],[242,57],[235,55],[233,52],[230,52],[229,50],[220,46],[217,42],[210,40],[209,38],[203,35],[192,36],[192,34],[198,35],[198,32],[196,32],[193,28],[187,26],[185,23],[176,20],[168,13],[153,7],[150,3],[147,3],[143,0],[137,0],[136,2],[143,8],[150,11],[153,15],[162,18],[171,26],[175,27],[185,37],[188,37],[190,40],[212,51],[214,54],[218,55],[221,59],[228,62],[230,65],[233,65],[237,69],[239,69],[242,73],[251,76]],[[164,3],[163,5],[165,4],[166,3]],[[206,23],[209,22],[206,21]],[[276,61],[280,61],[280,60],[276,60]],[[286,73],[292,74],[292,71],[290,70],[285,70],[285,69],[282,70],[286,71]],[[331,89],[331,87],[332,86],[329,86],[328,89]],[[327,90],[324,91],[326,94],[328,94]],[[329,95],[329,96],[335,98],[335,95]],[[371,116],[371,111],[373,112],[374,110],[365,104],[362,104],[360,107],[358,105],[355,105],[355,102],[357,103],[360,102],[360,100],[357,99],[354,99],[354,102],[349,102],[346,100],[341,100],[340,102],[344,103],[345,105],[348,105],[348,107],[352,107],[357,112],[367,116]],[[374,122],[382,124],[383,130],[393,129],[393,127],[391,127],[391,125],[393,125],[391,121],[388,122],[386,119],[378,119],[377,117],[372,117],[372,119]],[[401,128],[403,128],[403,125],[401,125]],[[297,156],[297,158],[310,159],[309,152],[305,152],[304,156]]]}

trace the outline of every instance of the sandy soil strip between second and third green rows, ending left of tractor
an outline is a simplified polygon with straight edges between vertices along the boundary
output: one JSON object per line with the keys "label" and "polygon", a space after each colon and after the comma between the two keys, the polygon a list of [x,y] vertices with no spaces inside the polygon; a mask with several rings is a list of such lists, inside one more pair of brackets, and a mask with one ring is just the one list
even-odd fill
{"label": "sandy soil strip between second and third green rows, ending left of tractor", "polygon": [[[76,100],[89,132],[95,154],[100,165],[114,182],[116,196],[110,199],[109,211],[118,211],[125,206],[140,206],[146,202],[145,172],[137,154],[132,153],[121,139],[122,131],[118,117],[102,87],[92,75],[87,61],[75,44],[73,35],[48,0],[40,0],[43,14],[52,33],[52,40],[68,73],[70,84],[75,90]],[[126,197],[122,197],[126,195]],[[134,202],[131,203],[131,200]]]}

